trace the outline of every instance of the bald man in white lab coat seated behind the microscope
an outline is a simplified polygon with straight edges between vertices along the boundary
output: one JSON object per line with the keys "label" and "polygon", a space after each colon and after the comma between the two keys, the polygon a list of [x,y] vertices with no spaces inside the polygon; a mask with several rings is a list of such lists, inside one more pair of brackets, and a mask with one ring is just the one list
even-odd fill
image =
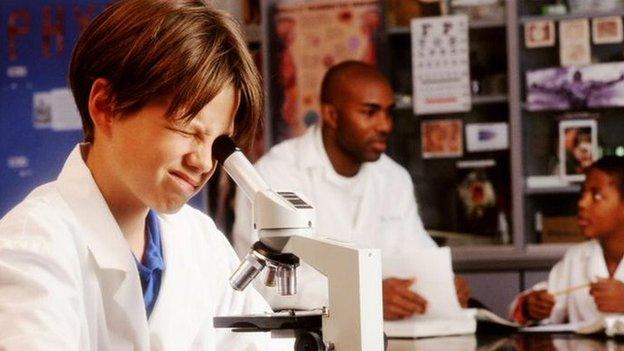
{"label": "bald man in white lab coat seated behind the microscope", "polygon": [[[380,248],[384,257],[436,246],[418,215],[410,175],[384,154],[393,107],[392,88],[376,69],[356,61],[338,64],[323,79],[322,124],[276,145],[256,163],[273,189],[299,191],[308,198],[316,209],[319,235]],[[258,240],[250,212],[249,201],[237,195],[232,238],[241,257]],[[299,293],[292,297],[256,286],[274,308],[326,305],[326,278],[305,264],[297,274]],[[385,319],[425,311],[425,299],[409,290],[413,282],[384,279]],[[468,287],[462,279],[456,285],[465,306]]]}

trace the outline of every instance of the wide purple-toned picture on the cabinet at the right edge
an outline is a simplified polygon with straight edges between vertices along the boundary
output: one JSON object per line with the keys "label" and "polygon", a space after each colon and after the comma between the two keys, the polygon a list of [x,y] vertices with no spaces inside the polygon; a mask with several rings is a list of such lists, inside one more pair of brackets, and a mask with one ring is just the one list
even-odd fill
{"label": "wide purple-toned picture on the cabinet at the right edge", "polygon": [[624,106],[624,63],[527,72],[527,108],[581,110]]}

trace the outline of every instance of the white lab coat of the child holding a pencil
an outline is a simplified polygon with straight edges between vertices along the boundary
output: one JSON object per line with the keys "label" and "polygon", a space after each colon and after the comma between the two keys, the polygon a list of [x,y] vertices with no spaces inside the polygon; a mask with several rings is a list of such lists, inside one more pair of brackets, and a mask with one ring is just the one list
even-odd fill
{"label": "white lab coat of the child holding a pencil", "polygon": [[[609,271],[600,243],[589,240],[571,247],[550,271],[548,283],[539,283],[532,290],[548,289],[549,292],[556,293],[608,277]],[[622,262],[618,265],[613,278],[624,281]],[[592,322],[604,316],[589,294],[589,287],[558,295],[555,299],[550,317],[543,323]]]}

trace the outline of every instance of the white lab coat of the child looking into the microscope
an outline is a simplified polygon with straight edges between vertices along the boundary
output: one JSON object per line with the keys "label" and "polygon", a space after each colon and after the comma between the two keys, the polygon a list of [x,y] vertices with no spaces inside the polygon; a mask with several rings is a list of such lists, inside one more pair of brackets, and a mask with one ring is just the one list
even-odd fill
{"label": "white lab coat of the child looking into the microscope", "polygon": [[188,206],[162,215],[166,270],[149,321],[134,257],[76,147],[54,182],[0,221],[0,349],[277,349],[213,317],[269,310],[228,284],[238,260]]}

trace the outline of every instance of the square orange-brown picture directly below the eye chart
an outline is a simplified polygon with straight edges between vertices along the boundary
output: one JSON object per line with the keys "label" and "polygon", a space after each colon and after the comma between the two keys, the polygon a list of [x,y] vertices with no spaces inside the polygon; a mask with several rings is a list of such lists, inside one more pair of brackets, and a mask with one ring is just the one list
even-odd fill
{"label": "square orange-brown picture directly below the eye chart", "polygon": [[463,123],[459,119],[425,121],[420,125],[423,158],[463,155]]}

